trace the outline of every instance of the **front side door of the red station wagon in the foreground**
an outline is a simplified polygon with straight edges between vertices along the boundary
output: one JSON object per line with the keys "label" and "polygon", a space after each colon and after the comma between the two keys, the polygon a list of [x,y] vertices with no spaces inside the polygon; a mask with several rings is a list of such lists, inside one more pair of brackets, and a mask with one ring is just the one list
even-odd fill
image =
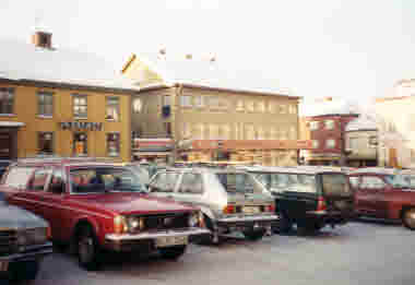
{"label": "front side door of the red station wagon in the foreground", "polygon": [[64,195],[68,191],[63,169],[54,168],[45,191],[38,195],[43,202],[43,215],[49,222],[54,239],[63,240],[64,230],[70,227],[70,212],[64,205]]}

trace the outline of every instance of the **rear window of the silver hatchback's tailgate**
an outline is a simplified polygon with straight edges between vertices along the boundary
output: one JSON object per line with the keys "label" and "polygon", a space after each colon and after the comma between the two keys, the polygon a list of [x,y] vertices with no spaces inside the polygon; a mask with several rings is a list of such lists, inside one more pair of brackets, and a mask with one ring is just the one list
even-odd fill
{"label": "rear window of the silver hatchback's tailgate", "polygon": [[253,193],[253,179],[248,174],[216,174],[228,193]]}

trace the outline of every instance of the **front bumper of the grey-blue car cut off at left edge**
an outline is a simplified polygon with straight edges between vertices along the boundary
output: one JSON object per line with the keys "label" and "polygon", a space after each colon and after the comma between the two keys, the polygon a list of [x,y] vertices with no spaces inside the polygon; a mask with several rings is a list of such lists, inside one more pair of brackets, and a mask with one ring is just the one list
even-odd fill
{"label": "front bumper of the grey-blue car cut off at left edge", "polygon": [[0,257],[0,261],[9,263],[39,260],[54,252],[52,244],[46,242],[37,246],[26,246],[20,252]]}

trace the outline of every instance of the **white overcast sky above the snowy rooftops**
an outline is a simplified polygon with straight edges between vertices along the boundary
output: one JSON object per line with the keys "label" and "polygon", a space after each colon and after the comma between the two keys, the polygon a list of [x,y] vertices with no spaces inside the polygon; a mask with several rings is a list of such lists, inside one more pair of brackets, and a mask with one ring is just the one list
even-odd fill
{"label": "white overcast sky above the snowy rooftops", "polygon": [[0,0],[0,37],[28,41],[35,23],[117,69],[163,46],[213,52],[304,97],[384,96],[415,76],[412,0]]}

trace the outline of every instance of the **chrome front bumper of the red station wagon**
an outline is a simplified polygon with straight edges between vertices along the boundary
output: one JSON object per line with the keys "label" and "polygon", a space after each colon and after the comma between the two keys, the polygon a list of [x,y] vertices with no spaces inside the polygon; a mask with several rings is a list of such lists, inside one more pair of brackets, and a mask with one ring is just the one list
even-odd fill
{"label": "chrome front bumper of the red station wagon", "polygon": [[146,231],[135,235],[131,234],[109,234],[105,236],[105,246],[114,251],[154,250],[155,240],[166,237],[188,236],[189,242],[198,241],[211,231],[205,228],[189,227],[179,229],[165,229],[157,231]]}

